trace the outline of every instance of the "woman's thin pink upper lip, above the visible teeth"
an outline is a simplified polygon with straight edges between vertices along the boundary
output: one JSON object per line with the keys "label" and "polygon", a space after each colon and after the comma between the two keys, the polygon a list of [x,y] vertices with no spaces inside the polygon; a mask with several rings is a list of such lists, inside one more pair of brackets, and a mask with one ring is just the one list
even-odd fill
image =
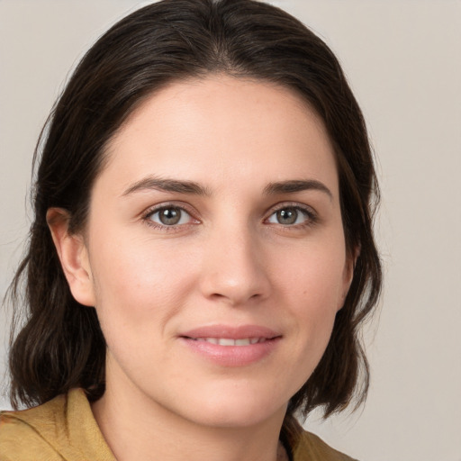
{"label": "woman's thin pink upper lip, above the visible teeth", "polygon": [[233,327],[230,325],[208,325],[203,327],[187,330],[179,335],[183,338],[228,338],[228,339],[246,339],[246,338],[264,338],[274,339],[281,336],[280,333],[270,328],[259,325],[241,325]]}

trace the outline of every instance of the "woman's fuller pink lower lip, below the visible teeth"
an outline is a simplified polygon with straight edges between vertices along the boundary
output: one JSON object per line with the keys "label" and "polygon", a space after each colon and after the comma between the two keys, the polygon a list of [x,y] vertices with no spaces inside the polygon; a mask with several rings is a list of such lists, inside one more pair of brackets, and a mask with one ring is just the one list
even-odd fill
{"label": "woman's fuller pink lower lip, below the visible teeth", "polygon": [[220,346],[208,341],[199,341],[182,337],[182,342],[196,354],[219,366],[247,366],[269,356],[276,348],[281,337],[267,339],[264,342],[248,346]]}

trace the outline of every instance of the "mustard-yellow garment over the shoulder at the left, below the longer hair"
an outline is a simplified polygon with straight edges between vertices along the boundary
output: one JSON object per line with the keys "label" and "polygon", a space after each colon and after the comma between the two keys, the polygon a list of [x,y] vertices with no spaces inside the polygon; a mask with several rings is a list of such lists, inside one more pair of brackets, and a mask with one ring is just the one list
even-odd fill
{"label": "mustard-yellow garment over the shoulder at the left, below the longer hair", "polygon": [[0,461],[87,458],[113,456],[82,390],[74,389],[28,410],[0,413]]}

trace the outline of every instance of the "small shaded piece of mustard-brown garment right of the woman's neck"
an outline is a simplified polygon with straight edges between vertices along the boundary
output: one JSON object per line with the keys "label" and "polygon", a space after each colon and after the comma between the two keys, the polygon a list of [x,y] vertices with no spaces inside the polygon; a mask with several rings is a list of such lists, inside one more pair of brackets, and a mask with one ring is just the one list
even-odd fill
{"label": "small shaded piece of mustard-brown garment right of the woman's neck", "polygon": [[283,430],[293,461],[357,461],[330,447],[312,432],[304,430],[292,417],[285,420]]}

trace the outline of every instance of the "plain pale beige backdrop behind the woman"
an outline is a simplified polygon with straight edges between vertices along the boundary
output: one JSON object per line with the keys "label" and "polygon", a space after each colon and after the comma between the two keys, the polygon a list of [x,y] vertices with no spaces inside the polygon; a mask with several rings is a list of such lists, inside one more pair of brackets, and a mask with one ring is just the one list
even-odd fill
{"label": "plain pale beige backdrop behind the woman", "polygon": [[[28,229],[34,143],[69,68],[147,3],[0,0],[0,294]],[[366,333],[369,398],[363,411],[323,424],[313,417],[308,427],[363,461],[460,461],[461,2],[272,3],[338,54],[366,114],[384,196],[376,230],[386,280],[380,319]]]}

